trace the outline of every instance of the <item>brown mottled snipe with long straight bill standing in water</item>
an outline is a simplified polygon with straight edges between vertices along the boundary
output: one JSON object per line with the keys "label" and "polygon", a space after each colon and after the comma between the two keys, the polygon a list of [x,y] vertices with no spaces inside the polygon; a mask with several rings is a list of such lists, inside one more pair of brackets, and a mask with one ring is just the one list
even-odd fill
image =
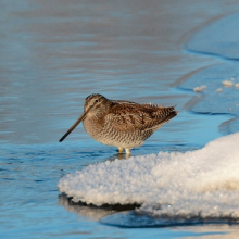
{"label": "brown mottled snipe with long straight bill standing in water", "polygon": [[109,100],[95,93],[85,100],[84,113],[59,140],[63,141],[83,122],[85,130],[98,142],[115,146],[118,152],[130,154],[163,124],[177,115],[174,106],[139,104],[124,100]]}

